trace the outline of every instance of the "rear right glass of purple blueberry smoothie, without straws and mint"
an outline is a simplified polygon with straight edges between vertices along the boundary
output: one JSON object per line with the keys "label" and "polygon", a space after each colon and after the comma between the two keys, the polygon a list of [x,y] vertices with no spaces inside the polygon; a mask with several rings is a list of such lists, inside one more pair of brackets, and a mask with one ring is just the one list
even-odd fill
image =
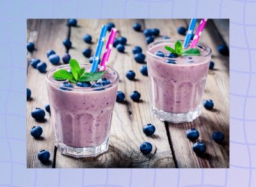
{"label": "rear right glass of purple blueberry smoothie, without straws and mint", "polygon": [[154,115],[163,121],[182,123],[200,116],[211,49],[198,43],[200,56],[177,56],[164,49],[174,49],[174,45],[170,40],[148,45],[148,76]]}

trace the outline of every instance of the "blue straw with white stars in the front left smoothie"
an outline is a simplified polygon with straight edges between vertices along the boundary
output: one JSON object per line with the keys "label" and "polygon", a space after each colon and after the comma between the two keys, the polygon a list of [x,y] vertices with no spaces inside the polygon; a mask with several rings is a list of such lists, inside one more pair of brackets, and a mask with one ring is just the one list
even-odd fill
{"label": "blue straw with white stars in the front left smoothie", "polygon": [[98,64],[100,60],[100,54],[104,45],[104,40],[105,36],[107,34],[108,27],[107,26],[102,26],[101,31],[100,31],[100,36],[98,40],[98,44],[96,47],[95,55],[93,57],[93,63],[92,63],[92,69],[91,72],[96,72],[98,70]]}

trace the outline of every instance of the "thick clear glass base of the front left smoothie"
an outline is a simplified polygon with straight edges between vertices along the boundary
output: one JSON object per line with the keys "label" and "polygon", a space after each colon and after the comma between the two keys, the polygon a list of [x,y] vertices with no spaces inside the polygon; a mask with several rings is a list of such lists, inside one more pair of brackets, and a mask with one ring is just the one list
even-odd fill
{"label": "thick clear glass base of the front left smoothie", "polygon": [[61,154],[66,154],[68,156],[73,156],[75,158],[89,157],[89,156],[98,156],[101,153],[108,151],[109,137],[102,142],[99,146],[93,147],[70,147],[62,142],[56,142],[55,146],[60,150]]}

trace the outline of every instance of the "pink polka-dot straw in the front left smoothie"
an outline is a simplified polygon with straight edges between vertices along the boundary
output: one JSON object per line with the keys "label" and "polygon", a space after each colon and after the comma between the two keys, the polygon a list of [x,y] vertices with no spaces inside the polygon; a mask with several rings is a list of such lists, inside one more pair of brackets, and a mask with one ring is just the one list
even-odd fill
{"label": "pink polka-dot straw in the front left smoothie", "polygon": [[99,71],[104,71],[106,69],[106,65],[108,63],[108,59],[109,59],[109,54],[111,52],[115,37],[116,37],[116,31],[117,29],[112,27],[111,28],[111,32],[109,34],[109,38],[108,38],[108,43],[106,45],[106,49],[104,52],[104,55],[102,57],[102,61],[100,63],[100,67],[99,67]]}

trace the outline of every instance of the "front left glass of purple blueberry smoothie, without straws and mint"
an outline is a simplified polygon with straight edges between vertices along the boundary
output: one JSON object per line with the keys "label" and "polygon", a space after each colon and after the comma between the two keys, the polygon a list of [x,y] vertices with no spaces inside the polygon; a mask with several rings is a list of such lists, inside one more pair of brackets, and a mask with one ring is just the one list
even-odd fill
{"label": "front left glass of purple blueberry smoothie, without straws and mint", "polygon": [[[91,65],[81,68],[90,70]],[[70,66],[58,66],[46,75],[56,146],[70,156],[97,156],[108,150],[118,73],[106,68],[97,82],[73,84],[52,78],[60,69],[70,70]]]}

